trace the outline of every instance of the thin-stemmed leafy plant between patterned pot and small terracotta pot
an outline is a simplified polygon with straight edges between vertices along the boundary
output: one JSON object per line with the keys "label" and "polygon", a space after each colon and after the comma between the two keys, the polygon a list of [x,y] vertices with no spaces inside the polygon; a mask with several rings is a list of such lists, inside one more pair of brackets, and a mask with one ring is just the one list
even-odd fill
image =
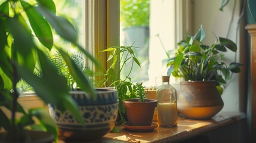
{"label": "thin-stemmed leafy plant between patterned pot and small terracotta pot", "polygon": [[[126,111],[122,101],[131,99],[131,98],[137,98],[137,92],[136,92],[137,89],[135,89],[135,85],[132,82],[131,77],[129,77],[129,74],[131,73],[134,64],[137,64],[138,66],[140,66],[140,62],[135,57],[134,51],[132,48],[136,48],[136,47],[112,46],[102,51],[102,52],[109,52],[109,58],[107,62],[112,63],[109,69],[107,69],[106,71],[102,86],[106,87],[107,83],[109,82],[110,87],[114,86],[114,88],[118,90],[120,119],[118,119],[117,125],[121,125],[123,122],[127,122]],[[118,55],[121,55],[120,59],[123,59],[124,57],[124,61],[121,61],[119,63]],[[129,69],[128,75],[125,76],[125,79],[120,79],[121,71],[124,69],[124,66],[126,66],[126,63],[130,60],[132,64]],[[119,64],[119,65],[116,65],[116,64]],[[115,70],[116,66],[118,67],[120,66],[120,68],[118,68],[117,71]]]}

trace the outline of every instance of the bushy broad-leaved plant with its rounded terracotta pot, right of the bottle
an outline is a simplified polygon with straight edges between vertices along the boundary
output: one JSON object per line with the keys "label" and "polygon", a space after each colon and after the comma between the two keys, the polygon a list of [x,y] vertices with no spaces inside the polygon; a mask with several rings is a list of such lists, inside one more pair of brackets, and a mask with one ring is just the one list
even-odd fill
{"label": "bushy broad-leaved plant with its rounded terracotta pot, right of the bottle", "polygon": [[[194,36],[178,43],[180,48],[169,58],[168,74],[183,77],[178,95],[178,112],[191,119],[209,119],[223,108],[220,95],[232,73],[238,73],[240,63],[224,63],[223,52],[236,52],[236,44],[226,38],[216,38],[211,46],[202,43],[203,27]],[[218,43],[219,42],[219,43]]]}

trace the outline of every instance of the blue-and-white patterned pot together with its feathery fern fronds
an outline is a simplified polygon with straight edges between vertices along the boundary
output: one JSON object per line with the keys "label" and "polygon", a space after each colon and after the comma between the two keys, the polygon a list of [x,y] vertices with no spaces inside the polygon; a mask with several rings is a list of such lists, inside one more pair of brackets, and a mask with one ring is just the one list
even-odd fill
{"label": "blue-and-white patterned pot together with its feathery fern fronds", "polygon": [[[79,113],[82,115],[85,125],[82,125],[70,111],[62,111],[55,105],[49,105],[50,115],[58,126],[58,132],[67,141],[97,141],[115,126],[118,116],[118,92],[110,88],[94,88],[96,98],[92,98],[87,92],[81,91],[81,87],[72,76],[72,71],[65,63],[60,53],[50,56],[51,61],[57,67],[59,74],[67,79],[67,88],[70,97],[78,104]],[[90,79],[90,85],[94,86],[94,71],[90,67],[84,67],[84,56],[81,52],[73,53],[71,59],[81,69],[82,73]]]}

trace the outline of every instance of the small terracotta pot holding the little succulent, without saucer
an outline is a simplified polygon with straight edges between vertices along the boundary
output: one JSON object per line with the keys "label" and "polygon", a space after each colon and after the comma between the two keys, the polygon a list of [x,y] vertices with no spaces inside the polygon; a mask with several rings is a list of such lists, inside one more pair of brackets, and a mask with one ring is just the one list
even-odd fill
{"label": "small terracotta pot holding the little succulent, without saucer", "polygon": [[131,126],[151,126],[153,114],[158,105],[157,100],[147,99],[146,102],[140,102],[138,99],[130,99],[124,100],[123,104]]}

